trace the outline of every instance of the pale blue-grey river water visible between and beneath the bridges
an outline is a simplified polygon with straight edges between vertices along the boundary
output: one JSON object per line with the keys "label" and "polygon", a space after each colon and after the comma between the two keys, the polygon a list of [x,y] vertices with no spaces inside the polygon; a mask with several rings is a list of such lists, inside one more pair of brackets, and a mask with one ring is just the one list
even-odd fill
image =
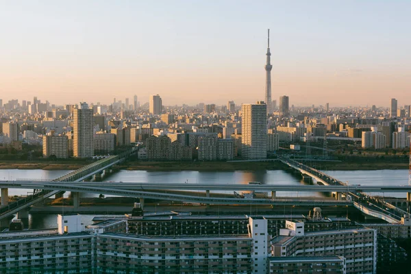
{"label": "pale blue-grey river water visible between and beneath the bridges", "polygon": [[[44,171],[0,169],[0,180],[16,179],[54,179],[70,171]],[[408,184],[408,170],[379,170],[379,171],[324,171],[340,181],[361,185],[387,185],[402,186]],[[248,184],[248,182],[261,182],[262,184],[303,184],[301,178],[287,171],[119,171],[103,179],[104,182],[141,182],[141,183],[187,183],[187,184]],[[10,189],[9,195],[27,195],[33,190]],[[66,193],[65,195],[69,195]],[[323,193],[316,192],[277,192],[277,197],[323,197]],[[406,197],[405,193],[373,193],[385,197]],[[96,195],[87,195],[95,197]],[[83,215],[85,224],[90,224],[95,215]],[[31,228],[50,228],[57,226],[54,214],[40,214],[30,216]]]}

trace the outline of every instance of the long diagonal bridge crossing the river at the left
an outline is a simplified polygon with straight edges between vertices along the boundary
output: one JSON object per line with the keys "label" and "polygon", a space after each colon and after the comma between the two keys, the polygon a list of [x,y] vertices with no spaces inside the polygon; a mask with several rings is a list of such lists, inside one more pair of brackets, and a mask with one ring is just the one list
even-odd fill
{"label": "long diagonal bridge crossing the river at the left", "polygon": [[[93,162],[92,164],[88,164],[81,169],[77,169],[76,171],[72,171],[71,173],[67,173],[66,175],[62,175],[58,178],[52,180],[55,183],[62,183],[62,182],[81,182],[84,179],[92,177],[93,175],[99,177],[103,173],[103,171],[109,170],[114,164],[118,164],[125,160],[129,155],[135,153],[136,149],[129,149],[119,155],[112,155],[107,158],[98,160],[97,162]],[[19,218],[28,218],[28,211],[27,208],[29,206],[34,205],[35,203],[39,203],[44,199],[49,197],[61,197],[62,190],[52,190],[52,189],[45,189],[45,188],[36,188],[34,186],[33,195],[29,195],[23,199],[18,201],[14,201],[12,203],[8,203],[8,187],[7,186],[0,186],[1,188],[1,208],[0,208],[0,221],[8,219],[13,214],[18,214]],[[79,201],[78,192],[73,192],[73,198]],[[0,225],[0,226],[4,226]]]}

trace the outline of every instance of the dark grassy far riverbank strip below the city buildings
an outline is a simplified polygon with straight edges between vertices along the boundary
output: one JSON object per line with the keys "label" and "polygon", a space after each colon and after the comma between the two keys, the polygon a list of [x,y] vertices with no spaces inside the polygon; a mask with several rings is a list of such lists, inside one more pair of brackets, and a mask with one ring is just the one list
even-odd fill
{"label": "dark grassy far riverbank strip below the city buildings", "polygon": [[[75,170],[90,160],[65,160],[55,162],[27,162],[27,161],[1,161],[0,169],[42,169],[42,170]],[[364,158],[362,160],[345,160],[341,162],[306,162],[306,164],[321,170],[334,171],[373,171],[382,169],[408,169],[408,160],[375,160]],[[264,171],[284,170],[286,166],[279,161],[273,162],[147,162],[127,161],[114,170],[129,171]]]}

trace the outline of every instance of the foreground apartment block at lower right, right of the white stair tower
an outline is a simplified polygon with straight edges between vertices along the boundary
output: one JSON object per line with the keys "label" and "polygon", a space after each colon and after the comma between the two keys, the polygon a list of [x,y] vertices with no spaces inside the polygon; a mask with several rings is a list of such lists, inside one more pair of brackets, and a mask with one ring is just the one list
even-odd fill
{"label": "foreground apartment block at lower right, right of the white stair tower", "polygon": [[369,228],[305,232],[304,223],[287,221],[273,238],[273,257],[341,256],[346,273],[376,273],[377,231]]}

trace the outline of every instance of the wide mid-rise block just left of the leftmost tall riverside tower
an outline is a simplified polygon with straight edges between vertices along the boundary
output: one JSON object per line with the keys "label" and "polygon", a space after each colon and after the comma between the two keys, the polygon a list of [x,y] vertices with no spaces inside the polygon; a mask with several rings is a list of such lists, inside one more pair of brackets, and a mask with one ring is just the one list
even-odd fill
{"label": "wide mid-rise block just left of the leftmost tall riverside tower", "polygon": [[69,158],[69,138],[66,135],[43,135],[42,141],[44,157]]}

